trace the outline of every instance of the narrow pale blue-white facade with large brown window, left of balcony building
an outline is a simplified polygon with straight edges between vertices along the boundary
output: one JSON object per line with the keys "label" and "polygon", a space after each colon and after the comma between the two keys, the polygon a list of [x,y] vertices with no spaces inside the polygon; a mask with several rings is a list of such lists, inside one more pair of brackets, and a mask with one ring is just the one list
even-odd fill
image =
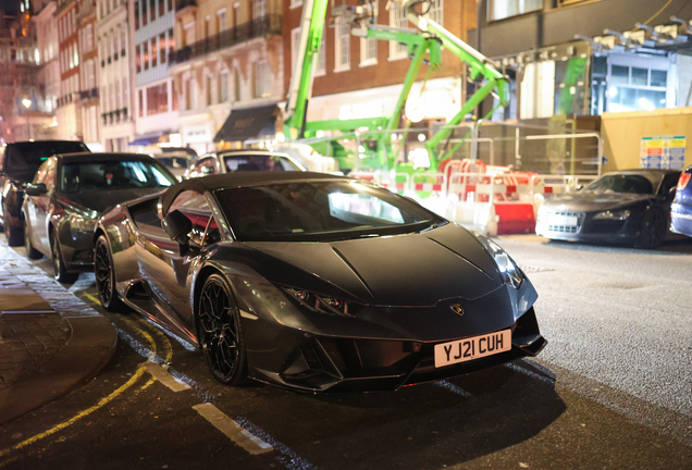
{"label": "narrow pale blue-white facade with large brown window, left of balcony building", "polygon": [[173,0],[135,0],[131,17],[136,134],[131,147],[156,153],[160,144],[180,146],[178,101],[168,71],[169,54],[175,50]]}

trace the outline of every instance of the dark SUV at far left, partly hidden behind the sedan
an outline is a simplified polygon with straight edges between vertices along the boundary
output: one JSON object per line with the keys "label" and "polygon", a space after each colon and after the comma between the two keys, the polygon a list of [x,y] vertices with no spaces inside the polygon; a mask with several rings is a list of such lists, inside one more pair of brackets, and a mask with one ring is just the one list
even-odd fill
{"label": "dark SUV at far left, partly hidden behind the sedan", "polygon": [[24,185],[34,180],[40,164],[54,154],[88,151],[83,143],[73,140],[23,141],[0,148],[0,224],[10,246],[24,244]]}

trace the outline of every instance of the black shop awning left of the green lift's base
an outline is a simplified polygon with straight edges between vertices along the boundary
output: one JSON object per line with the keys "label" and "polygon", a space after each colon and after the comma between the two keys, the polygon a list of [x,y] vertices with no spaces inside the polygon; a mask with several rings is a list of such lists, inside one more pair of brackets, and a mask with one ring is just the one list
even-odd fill
{"label": "black shop awning left of the green lift's base", "polygon": [[214,141],[236,141],[273,136],[277,111],[276,104],[233,110],[217,133]]}

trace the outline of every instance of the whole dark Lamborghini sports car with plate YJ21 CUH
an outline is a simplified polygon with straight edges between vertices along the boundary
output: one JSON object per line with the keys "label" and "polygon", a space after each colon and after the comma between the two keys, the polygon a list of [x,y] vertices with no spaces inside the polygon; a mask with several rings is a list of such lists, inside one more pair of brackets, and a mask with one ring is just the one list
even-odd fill
{"label": "whole dark Lamborghini sports car with plate YJ21 CUH", "polygon": [[533,286],[495,243],[347,177],[188,180],[113,209],[95,237],[103,307],[200,345],[223,383],[395,389],[546,343]]}

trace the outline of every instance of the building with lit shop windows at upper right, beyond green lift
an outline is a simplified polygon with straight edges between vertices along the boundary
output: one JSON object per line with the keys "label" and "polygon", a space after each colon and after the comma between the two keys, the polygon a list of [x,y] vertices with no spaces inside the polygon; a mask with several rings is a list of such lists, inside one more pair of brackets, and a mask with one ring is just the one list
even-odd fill
{"label": "building with lit shop windows at upper right, beyond green lift", "polygon": [[[692,15],[684,0],[483,0],[482,11],[480,50],[515,90],[506,119],[690,104],[692,28],[675,18]],[[475,47],[478,30],[469,38]]]}

